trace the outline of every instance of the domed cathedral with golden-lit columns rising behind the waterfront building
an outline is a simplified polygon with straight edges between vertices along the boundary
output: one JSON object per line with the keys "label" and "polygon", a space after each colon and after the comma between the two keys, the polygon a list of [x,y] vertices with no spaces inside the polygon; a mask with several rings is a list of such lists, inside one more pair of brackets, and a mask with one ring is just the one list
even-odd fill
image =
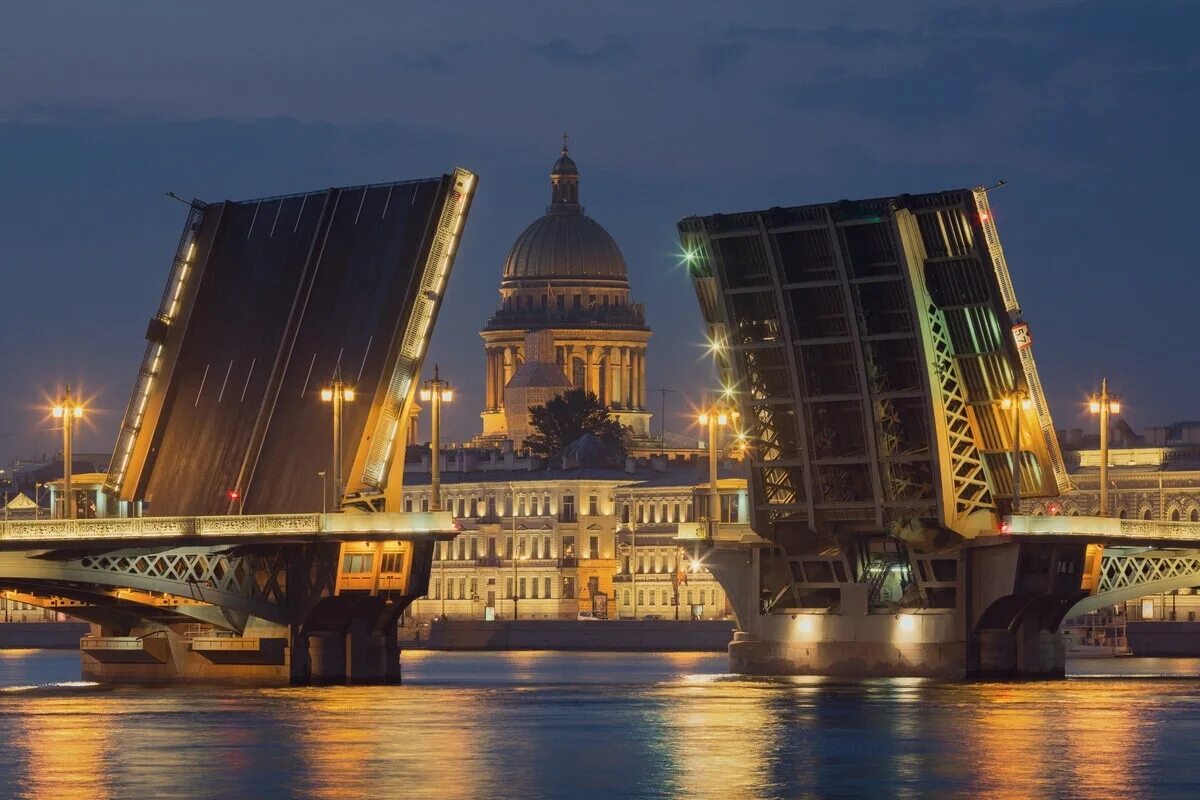
{"label": "domed cathedral with golden-lit columns rising behind the waterfront building", "polygon": [[480,331],[487,362],[481,441],[511,439],[520,447],[530,405],[564,387],[593,392],[635,438],[647,438],[650,329],[630,296],[625,258],[583,213],[580,172],[565,143],[550,181],[546,213],[509,251],[500,305]]}

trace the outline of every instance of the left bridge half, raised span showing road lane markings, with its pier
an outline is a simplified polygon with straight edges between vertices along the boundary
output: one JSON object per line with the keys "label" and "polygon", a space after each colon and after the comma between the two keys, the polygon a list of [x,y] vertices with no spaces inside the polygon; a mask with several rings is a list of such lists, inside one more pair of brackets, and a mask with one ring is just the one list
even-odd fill
{"label": "left bridge half, raised span showing road lane markings, with its pier", "polygon": [[398,679],[396,621],[456,530],[398,512],[394,464],[475,184],[190,204],[110,462],[120,517],[0,527],[0,591],[95,624],[85,678]]}

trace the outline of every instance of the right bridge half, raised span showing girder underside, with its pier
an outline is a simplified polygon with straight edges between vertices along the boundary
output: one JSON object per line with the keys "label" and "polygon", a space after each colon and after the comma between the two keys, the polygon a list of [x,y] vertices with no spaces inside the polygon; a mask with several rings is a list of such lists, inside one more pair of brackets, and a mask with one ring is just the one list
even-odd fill
{"label": "right bridge half, raised span showing girder underside, with its pier", "polygon": [[734,670],[1056,675],[1072,608],[1200,583],[1200,525],[1019,516],[1070,483],[984,188],[678,228],[750,468],[691,533]]}

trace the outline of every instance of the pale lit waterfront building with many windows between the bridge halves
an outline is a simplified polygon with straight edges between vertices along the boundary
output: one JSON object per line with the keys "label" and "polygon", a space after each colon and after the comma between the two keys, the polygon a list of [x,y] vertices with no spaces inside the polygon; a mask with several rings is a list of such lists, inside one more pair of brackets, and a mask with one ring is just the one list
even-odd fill
{"label": "pale lit waterfront building with many windows between the bridge halves", "polygon": [[[420,456],[404,469],[406,511],[430,506],[428,450],[414,451]],[[413,619],[728,615],[720,584],[676,541],[679,524],[696,521],[704,458],[546,467],[506,446],[454,450],[442,459],[442,501],[463,533],[434,552],[430,593],[413,603]],[[720,474],[722,519],[745,521],[737,462],[722,461]]]}

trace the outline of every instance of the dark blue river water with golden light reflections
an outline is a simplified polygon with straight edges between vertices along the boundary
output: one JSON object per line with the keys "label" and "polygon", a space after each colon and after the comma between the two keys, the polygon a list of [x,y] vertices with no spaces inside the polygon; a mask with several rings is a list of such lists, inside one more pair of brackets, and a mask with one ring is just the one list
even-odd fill
{"label": "dark blue river water with golden light reflections", "polygon": [[[1200,662],[744,679],[712,654],[406,651],[388,687],[104,687],[0,650],[0,798],[1200,798]],[[1154,675],[1156,678],[1151,678]]]}

